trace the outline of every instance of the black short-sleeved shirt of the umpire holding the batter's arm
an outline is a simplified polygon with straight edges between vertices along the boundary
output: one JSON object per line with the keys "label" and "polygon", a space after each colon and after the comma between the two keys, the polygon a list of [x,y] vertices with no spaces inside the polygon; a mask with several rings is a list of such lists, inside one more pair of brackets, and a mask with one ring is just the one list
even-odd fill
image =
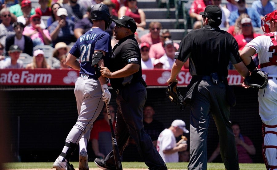
{"label": "black short-sleeved shirt of the umpire holding the batter's arm", "polygon": [[130,63],[139,64],[139,71],[127,77],[110,78],[110,84],[113,89],[122,89],[125,85],[141,81],[140,49],[137,40],[134,38],[134,34],[119,40],[114,46],[108,69],[114,72]]}

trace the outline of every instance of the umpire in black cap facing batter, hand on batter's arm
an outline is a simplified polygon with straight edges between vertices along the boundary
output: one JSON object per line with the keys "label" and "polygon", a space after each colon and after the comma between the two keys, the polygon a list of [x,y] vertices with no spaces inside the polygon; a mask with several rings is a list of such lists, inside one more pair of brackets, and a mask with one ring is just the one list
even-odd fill
{"label": "umpire in black cap facing batter, hand on batter's arm", "polygon": [[[103,77],[110,78],[112,88],[118,93],[115,137],[120,155],[129,137],[132,136],[140,156],[150,170],[167,169],[159,152],[153,146],[151,137],[143,128],[143,106],[147,97],[147,85],[141,77],[140,49],[134,38],[136,23],[128,16],[113,21],[116,23],[114,36],[119,42],[113,48],[110,58],[112,64],[109,68],[101,67],[101,73]],[[116,169],[113,151],[105,159],[96,158],[94,162],[102,169]]]}

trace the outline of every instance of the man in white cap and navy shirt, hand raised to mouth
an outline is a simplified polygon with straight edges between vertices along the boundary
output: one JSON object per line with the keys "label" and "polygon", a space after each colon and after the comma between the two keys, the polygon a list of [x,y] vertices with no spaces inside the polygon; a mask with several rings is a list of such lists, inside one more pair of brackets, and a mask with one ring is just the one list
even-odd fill
{"label": "man in white cap and navy shirt, hand raised to mouth", "polygon": [[65,8],[59,8],[57,11],[58,20],[53,22],[49,27],[49,33],[53,42],[56,45],[58,42],[65,42],[67,45],[70,42],[75,42],[74,25],[70,19],[66,19],[67,11]]}

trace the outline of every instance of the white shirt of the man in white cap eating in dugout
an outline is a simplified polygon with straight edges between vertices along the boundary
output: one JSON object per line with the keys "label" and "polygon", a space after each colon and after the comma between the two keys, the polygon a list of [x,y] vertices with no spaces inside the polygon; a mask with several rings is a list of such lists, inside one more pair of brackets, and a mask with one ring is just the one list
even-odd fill
{"label": "white shirt of the man in white cap eating in dugout", "polygon": [[157,140],[157,150],[162,156],[165,163],[179,162],[178,152],[172,154],[164,154],[163,150],[168,150],[176,147],[176,138],[170,129],[164,129]]}

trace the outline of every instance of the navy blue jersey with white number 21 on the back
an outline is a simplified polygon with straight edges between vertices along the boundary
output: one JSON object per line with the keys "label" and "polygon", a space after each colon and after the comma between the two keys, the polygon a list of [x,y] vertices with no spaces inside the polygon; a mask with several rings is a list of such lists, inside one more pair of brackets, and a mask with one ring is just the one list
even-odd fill
{"label": "navy blue jersey with white number 21 on the back", "polygon": [[105,67],[107,67],[112,50],[110,45],[110,35],[100,28],[91,28],[84,35],[79,37],[69,53],[81,59],[80,74],[89,74],[90,77],[94,77],[94,79],[97,80],[94,67],[91,67],[94,50],[102,50],[106,52],[104,64]]}

